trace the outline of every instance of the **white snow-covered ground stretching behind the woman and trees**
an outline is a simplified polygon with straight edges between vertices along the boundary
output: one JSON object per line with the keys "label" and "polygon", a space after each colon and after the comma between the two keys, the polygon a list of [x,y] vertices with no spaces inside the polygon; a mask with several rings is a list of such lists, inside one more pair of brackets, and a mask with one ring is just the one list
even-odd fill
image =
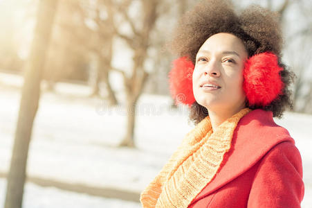
{"label": "white snow-covered ground stretching behind the woman and trees", "polygon": [[[19,76],[0,73],[0,172],[6,173],[19,109]],[[44,92],[34,123],[28,175],[68,184],[111,187],[140,193],[192,128],[185,108],[172,109],[165,96],[143,94],[138,103],[135,149],[116,148],[126,128],[122,105],[89,98],[89,87],[59,83]],[[286,113],[275,120],[291,133],[302,154],[306,187],[302,207],[312,207],[312,116]],[[0,178],[0,207],[6,181]],[[24,208],[140,207],[138,202],[100,198],[26,184]]]}

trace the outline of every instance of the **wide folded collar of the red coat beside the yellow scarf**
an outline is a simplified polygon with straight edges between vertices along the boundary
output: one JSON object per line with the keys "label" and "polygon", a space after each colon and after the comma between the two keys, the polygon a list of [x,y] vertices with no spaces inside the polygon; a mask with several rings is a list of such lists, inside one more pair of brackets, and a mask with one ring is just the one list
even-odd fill
{"label": "wide folded collar of the red coat beside the yellow scarf", "polygon": [[[253,110],[244,116],[232,137],[232,146],[226,153],[219,173],[191,204],[223,187],[248,171],[261,157],[282,141],[293,141],[288,131],[273,121],[273,112]],[[239,166],[237,166],[239,164]]]}

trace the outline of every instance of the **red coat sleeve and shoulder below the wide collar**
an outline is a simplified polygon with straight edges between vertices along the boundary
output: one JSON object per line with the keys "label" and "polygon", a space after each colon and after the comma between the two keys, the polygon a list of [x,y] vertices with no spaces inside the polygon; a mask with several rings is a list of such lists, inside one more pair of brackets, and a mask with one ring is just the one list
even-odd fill
{"label": "red coat sleeve and shoulder below the wide collar", "polygon": [[284,141],[271,148],[259,162],[248,207],[300,207],[303,196],[299,150]]}

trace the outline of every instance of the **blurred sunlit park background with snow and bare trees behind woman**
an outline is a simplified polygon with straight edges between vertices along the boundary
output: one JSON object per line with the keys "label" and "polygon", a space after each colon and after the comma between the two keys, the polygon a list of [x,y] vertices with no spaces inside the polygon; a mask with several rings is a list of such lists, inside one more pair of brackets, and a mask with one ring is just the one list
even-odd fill
{"label": "blurred sunlit park background with snow and bare trees behind woman", "polygon": [[[166,42],[197,2],[0,0],[0,207],[140,207],[193,128],[169,96]],[[312,207],[312,2],[233,2],[280,14],[297,78],[275,121],[302,154]]]}

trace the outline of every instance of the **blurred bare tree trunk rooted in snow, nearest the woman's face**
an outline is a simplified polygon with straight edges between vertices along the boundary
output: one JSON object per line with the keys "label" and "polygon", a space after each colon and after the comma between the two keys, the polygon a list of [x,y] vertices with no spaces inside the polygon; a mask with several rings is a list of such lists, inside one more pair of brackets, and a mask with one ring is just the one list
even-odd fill
{"label": "blurred bare tree trunk rooted in snow, nearest the woman's face", "polygon": [[[143,91],[143,86],[145,81],[147,80],[147,76],[149,75],[144,70],[144,62],[147,58],[147,49],[149,47],[149,35],[152,33],[154,28],[156,19],[157,19],[157,6],[158,1],[150,0],[150,1],[141,1],[142,10],[143,10],[143,26],[140,31],[136,31],[138,33],[134,38],[126,38],[128,40],[129,46],[134,50],[134,66],[132,68],[132,74],[129,78],[122,73],[124,76],[124,85],[127,94],[127,133],[125,139],[122,140],[120,146],[129,146],[134,148],[134,124],[136,117],[136,102],[140,94]],[[131,22],[131,19],[127,15],[127,20],[131,25],[134,25],[134,22]],[[135,26],[133,26],[135,28]],[[135,41],[132,41],[132,40]],[[131,40],[131,41],[129,41]],[[134,44],[136,42],[136,44]]]}

